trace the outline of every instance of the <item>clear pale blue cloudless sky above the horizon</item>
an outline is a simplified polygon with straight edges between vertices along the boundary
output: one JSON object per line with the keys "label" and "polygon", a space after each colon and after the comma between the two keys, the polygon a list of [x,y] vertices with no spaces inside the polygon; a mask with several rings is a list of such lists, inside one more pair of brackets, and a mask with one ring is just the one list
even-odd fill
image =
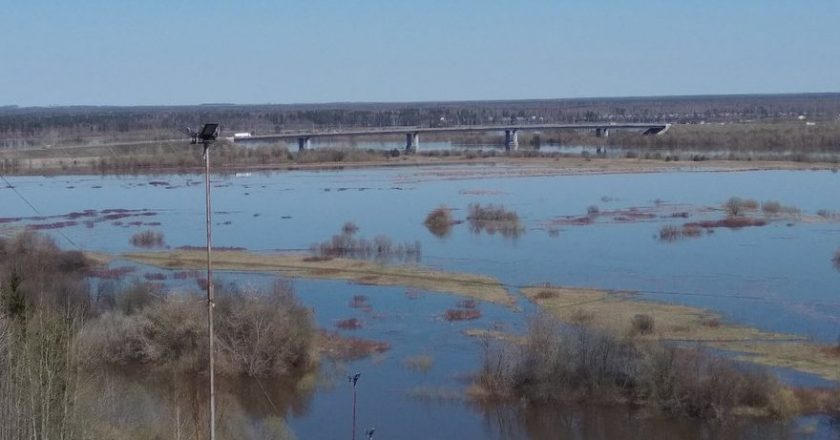
{"label": "clear pale blue cloudless sky above the horizon", "polygon": [[838,0],[0,0],[0,105],[840,91]]}

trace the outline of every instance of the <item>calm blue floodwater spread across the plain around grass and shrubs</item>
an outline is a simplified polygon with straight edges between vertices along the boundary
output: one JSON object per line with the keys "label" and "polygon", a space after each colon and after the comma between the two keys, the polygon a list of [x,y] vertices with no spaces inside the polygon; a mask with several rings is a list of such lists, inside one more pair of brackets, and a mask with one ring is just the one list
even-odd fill
{"label": "calm blue floodwater spread across the plain around grass and shrubs", "polygon": [[[299,438],[349,437],[352,387],[346,374],[360,372],[358,433],[376,428],[376,438],[795,438],[831,435],[820,418],[791,423],[709,426],[674,421],[627,409],[525,410],[481,408],[463,400],[469,374],[479,366],[480,341],[462,334],[473,328],[521,332],[534,308],[518,288],[551,283],[638,291],[660,301],[702,306],[725,319],[762,330],[804,335],[834,343],[840,334],[840,272],[832,257],[840,247],[840,223],[816,216],[840,211],[829,171],[667,172],[507,176],[504,166],[380,168],[318,172],[268,172],[213,176],[214,244],[256,251],[301,250],[338,233],[347,221],[358,235],[382,234],[394,242],[419,241],[421,264],[482,273],[517,295],[517,307],[480,303],[482,317],[448,322],[453,295],[331,280],[297,280],[300,299],[315,310],[321,327],[335,329],[358,318],[362,328],[342,334],[386,341],[378,356],[333,365],[305,408],[287,420]],[[123,252],[146,229],[165,234],[167,245],[204,242],[204,186],[200,175],[57,176],[9,179],[39,212],[8,188],[0,188],[0,227],[45,225],[68,248]],[[152,182],[152,183],[150,183]],[[767,226],[716,229],[675,242],[658,239],[663,225],[720,219],[732,196],[776,200],[801,215]],[[446,205],[458,219],[471,203],[503,204],[525,227],[512,238],[476,234],[465,224],[440,238],[422,225],[432,209]],[[602,213],[576,224],[597,206]],[[107,211],[105,210],[147,210]],[[89,211],[85,216],[60,217]],[[634,215],[634,213],[646,215]],[[688,219],[673,217],[686,212]],[[120,214],[115,217],[106,217]],[[139,223],[139,225],[138,225]],[[72,244],[71,244],[72,242]],[[127,265],[117,261],[116,266]],[[144,269],[153,270],[153,269]],[[154,271],[158,271],[154,269]],[[240,283],[267,283],[270,276],[227,274]],[[354,295],[370,309],[351,308]],[[428,355],[431,368],[407,368],[406,358]],[[803,384],[808,375],[781,371]],[[786,379],[787,380],[787,379]],[[836,433],[835,433],[836,434]]]}

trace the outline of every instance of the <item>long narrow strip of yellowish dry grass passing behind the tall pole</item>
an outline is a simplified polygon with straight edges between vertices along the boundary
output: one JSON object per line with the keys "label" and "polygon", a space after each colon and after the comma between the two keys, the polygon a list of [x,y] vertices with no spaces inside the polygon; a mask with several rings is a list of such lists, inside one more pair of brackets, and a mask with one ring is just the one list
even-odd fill
{"label": "long narrow strip of yellowish dry grass passing behind the tall pole", "polygon": [[[201,269],[206,254],[200,251],[136,252],[129,260],[158,267]],[[513,305],[514,298],[495,279],[457,272],[444,272],[414,265],[384,265],[373,261],[333,258],[305,261],[305,255],[256,254],[229,251],[214,256],[219,270],[281,272],[290,277],[342,279],[384,286],[404,286],[424,291],[453,293],[497,304]]]}

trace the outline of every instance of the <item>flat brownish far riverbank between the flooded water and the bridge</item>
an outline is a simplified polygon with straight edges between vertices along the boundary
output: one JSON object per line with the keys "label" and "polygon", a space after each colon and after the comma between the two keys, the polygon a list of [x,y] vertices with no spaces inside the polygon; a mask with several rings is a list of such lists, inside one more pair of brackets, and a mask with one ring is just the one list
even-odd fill
{"label": "flat brownish far riverbank between the flooded water and the bridge", "polygon": [[[5,175],[137,175],[137,174],[195,174],[204,171],[201,153],[189,147],[173,153],[171,146],[143,146],[139,152],[115,152],[105,147],[72,147],[53,150],[11,150],[0,152],[0,170]],[[291,155],[285,148],[221,147],[214,150],[213,172],[234,174],[271,171],[320,171],[340,169],[437,166],[497,166],[519,167],[520,171],[505,168],[495,175],[482,176],[539,176],[564,174],[650,173],[669,171],[753,171],[753,170],[836,170],[836,161],[819,160],[753,160],[739,156],[738,160],[685,160],[675,154],[656,152],[631,157],[599,155],[571,155],[521,150],[510,154],[495,151],[469,150],[430,151],[419,154],[393,155],[387,151],[374,152],[357,149],[313,150],[305,155]],[[632,157],[636,156],[636,157]],[[502,168],[500,168],[501,170]]]}

